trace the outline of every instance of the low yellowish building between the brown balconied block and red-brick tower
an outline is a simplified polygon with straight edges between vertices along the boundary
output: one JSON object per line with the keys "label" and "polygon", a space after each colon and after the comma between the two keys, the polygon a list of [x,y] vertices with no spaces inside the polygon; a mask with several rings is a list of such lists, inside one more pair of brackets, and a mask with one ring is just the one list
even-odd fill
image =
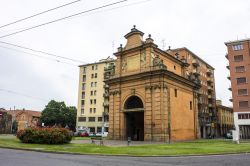
{"label": "low yellowish building between the brown balconied block and red-brick tower", "polygon": [[216,100],[216,110],[219,136],[225,137],[229,130],[234,129],[233,108],[222,105],[221,100]]}

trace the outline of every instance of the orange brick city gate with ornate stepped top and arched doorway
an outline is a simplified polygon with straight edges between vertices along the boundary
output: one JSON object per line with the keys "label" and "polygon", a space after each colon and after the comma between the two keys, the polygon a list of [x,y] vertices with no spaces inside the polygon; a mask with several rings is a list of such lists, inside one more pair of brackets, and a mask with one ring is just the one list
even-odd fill
{"label": "orange brick city gate with ornate stepped top and arched doorway", "polygon": [[199,137],[199,80],[176,58],[134,28],[114,54],[109,85],[109,137],[145,141],[192,140]]}

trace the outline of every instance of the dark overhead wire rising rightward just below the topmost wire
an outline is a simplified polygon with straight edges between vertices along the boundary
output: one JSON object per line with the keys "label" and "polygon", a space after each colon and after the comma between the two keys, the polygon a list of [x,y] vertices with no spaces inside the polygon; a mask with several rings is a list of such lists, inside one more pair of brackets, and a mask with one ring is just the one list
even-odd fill
{"label": "dark overhead wire rising rightward just below the topmost wire", "polygon": [[79,16],[79,15],[82,15],[82,14],[85,14],[85,13],[92,12],[92,11],[95,11],[95,10],[99,10],[99,9],[102,9],[102,8],[114,6],[114,5],[117,5],[117,4],[120,4],[120,3],[124,3],[126,1],[129,1],[129,0],[117,1],[117,2],[113,2],[113,3],[109,3],[109,4],[106,4],[106,5],[99,6],[99,7],[96,7],[96,8],[92,8],[92,9],[89,9],[89,10],[85,10],[85,11],[82,11],[82,12],[79,12],[79,13],[76,13],[76,14],[72,14],[72,15],[69,15],[69,16],[66,16],[66,17],[62,17],[62,18],[59,18],[59,19],[56,19],[56,20],[53,20],[53,21],[45,22],[45,23],[30,27],[30,28],[26,28],[26,29],[23,29],[23,30],[20,30],[20,31],[9,33],[9,34],[0,36],[0,38],[4,38],[4,37],[12,36],[12,35],[15,35],[15,34],[19,34],[19,33],[22,33],[22,32],[26,32],[26,31],[29,31],[29,30],[32,30],[32,29],[35,29],[35,28],[38,28],[38,27],[41,27],[41,26],[45,26],[45,25],[48,25],[48,24],[59,22],[59,21],[65,20],[65,19],[69,19],[69,18],[72,18],[72,17],[75,17],[75,16]]}

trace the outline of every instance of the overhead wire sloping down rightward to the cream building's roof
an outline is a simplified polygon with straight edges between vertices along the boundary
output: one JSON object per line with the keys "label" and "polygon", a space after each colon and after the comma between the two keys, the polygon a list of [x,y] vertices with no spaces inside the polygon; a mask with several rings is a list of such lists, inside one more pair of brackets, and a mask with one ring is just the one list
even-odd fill
{"label": "overhead wire sloping down rightward to the cream building's roof", "polygon": [[14,47],[18,47],[18,48],[25,49],[25,50],[29,50],[29,51],[32,51],[32,52],[37,52],[37,53],[41,53],[41,54],[53,56],[53,57],[56,57],[56,58],[65,59],[65,60],[68,60],[68,61],[73,61],[73,62],[78,62],[78,63],[86,64],[86,62],[83,62],[83,61],[78,60],[78,59],[67,58],[67,57],[64,57],[64,56],[60,56],[60,55],[48,53],[48,52],[45,52],[45,51],[35,50],[33,48],[28,48],[28,47],[17,45],[17,44],[12,44],[12,43],[3,42],[3,41],[0,41],[0,43],[6,44],[6,45],[10,45],[10,46],[14,46]]}

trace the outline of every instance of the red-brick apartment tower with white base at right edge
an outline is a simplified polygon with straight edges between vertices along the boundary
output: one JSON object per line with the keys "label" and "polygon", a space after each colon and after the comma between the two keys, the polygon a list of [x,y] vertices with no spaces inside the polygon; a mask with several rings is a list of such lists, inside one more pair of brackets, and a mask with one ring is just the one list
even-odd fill
{"label": "red-brick apartment tower with white base at right edge", "polygon": [[234,123],[241,139],[250,138],[250,39],[225,42],[229,61]]}

